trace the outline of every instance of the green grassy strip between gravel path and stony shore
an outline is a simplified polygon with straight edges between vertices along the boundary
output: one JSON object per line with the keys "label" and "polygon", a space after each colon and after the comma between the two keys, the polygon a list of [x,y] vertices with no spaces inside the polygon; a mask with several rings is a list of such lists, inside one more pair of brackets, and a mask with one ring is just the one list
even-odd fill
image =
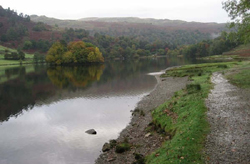
{"label": "green grassy strip between gravel path and stony shore", "polygon": [[153,124],[168,136],[162,147],[147,157],[147,163],[204,163],[202,150],[209,132],[205,99],[212,88],[210,76],[239,64],[189,65],[166,72],[164,76],[189,76],[192,83],[152,112]]}

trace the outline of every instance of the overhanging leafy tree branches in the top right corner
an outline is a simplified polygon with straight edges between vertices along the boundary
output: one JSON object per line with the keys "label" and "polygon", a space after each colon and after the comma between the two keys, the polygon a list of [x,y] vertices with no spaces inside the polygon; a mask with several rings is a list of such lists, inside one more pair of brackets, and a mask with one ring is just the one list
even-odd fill
{"label": "overhanging leafy tree branches in the top right corner", "polygon": [[239,40],[244,43],[250,42],[250,1],[228,0],[223,3],[223,8],[228,12],[233,22],[230,28],[237,29]]}

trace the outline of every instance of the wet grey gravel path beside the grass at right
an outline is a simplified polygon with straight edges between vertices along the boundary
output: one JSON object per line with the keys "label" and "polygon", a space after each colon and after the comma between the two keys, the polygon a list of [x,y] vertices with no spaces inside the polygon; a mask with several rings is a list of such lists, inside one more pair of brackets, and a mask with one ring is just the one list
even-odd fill
{"label": "wet grey gravel path beside the grass at right", "polygon": [[211,125],[207,163],[250,164],[250,90],[230,84],[221,73],[214,73],[212,82],[206,100]]}

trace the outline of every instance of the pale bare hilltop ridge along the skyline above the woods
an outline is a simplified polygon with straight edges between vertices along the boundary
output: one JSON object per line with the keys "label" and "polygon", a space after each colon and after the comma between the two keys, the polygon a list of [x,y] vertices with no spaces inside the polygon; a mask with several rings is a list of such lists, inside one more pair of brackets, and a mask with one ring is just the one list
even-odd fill
{"label": "pale bare hilltop ridge along the skyline above the woods", "polygon": [[44,22],[51,26],[58,25],[62,28],[83,28],[92,33],[99,32],[111,36],[135,35],[142,30],[161,30],[171,32],[176,30],[195,31],[202,33],[220,33],[225,30],[223,23],[199,23],[186,22],[182,20],[136,18],[136,17],[114,17],[114,18],[82,18],[79,20],[60,20],[46,16],[30,16],[32,21]]}

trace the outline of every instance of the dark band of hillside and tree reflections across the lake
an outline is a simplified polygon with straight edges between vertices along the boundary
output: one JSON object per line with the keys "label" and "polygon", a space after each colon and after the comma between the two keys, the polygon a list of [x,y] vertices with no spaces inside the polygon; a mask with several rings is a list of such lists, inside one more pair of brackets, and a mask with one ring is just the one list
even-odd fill
{"label": "dark band of hillside and tree reflections across the lake", "polygon": [[[51,103],[108,92],[110,95],[136,94],[155,83],[155,79],[144,76],[146,73],[184,63],[184,59],[157,58],[107,62],[105,69],[104,65],[50,68],[36,65],[5,69],[0,72],[0,80],[4,78],[0,83],[0,122],[38,102]],[[98,82],[93,83],[95,81]],[[91,83],[93,87],[90,87]]]}

